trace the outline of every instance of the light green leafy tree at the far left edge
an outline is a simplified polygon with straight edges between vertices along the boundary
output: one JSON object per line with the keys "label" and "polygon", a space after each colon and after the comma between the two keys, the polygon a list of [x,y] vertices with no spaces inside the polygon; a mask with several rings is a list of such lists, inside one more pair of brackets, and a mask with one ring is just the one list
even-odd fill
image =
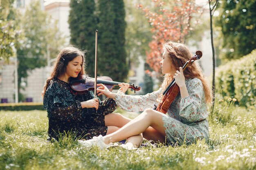
{"label": "light green leafy tree at the far left edge", "polygon": [[12,46],[16,46],[20,37],[20,30],[16,22],[16,14],[13,10],[14,0],[0,1],[0,60],[9,62],[9,57],[13,56]]}

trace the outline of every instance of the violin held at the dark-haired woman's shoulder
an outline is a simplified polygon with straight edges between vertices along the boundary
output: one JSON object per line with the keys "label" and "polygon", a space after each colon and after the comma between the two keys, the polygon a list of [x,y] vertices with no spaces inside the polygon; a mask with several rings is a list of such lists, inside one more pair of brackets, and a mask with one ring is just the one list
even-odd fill
{"label": "violin held at the dark-haired woman's shoulder", "polygon": [[[120,82],[114,82],[108,76],[97,77],[97,83],[104,84],[110,91],[112,91],[112,89],[115,85],[120,84]],[[71,90],[72,93],[83,94],[86,91],[94,90],[95,79],[92,77],[89,77],[88,75],[79,73],[79,75],[76,78],[70,77],[69,84],[72,89]],[[131,82],[129,82],[129,84],[130,84],[129,88],[131,89],[131,91],[134,91],[134,93],[135,93],[135,91],[140,90],[140,86],[135,86],[134,84],[131,84]],[[97,87],[99,87],[99,86],[97,86]]]}

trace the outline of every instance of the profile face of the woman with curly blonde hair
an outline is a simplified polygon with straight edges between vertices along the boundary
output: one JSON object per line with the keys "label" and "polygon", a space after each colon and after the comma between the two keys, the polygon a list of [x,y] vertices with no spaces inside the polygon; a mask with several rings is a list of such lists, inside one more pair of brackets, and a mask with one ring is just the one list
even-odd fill
{"label": "profile face of the woman with curly blonde hair", "polygon": [[166,50],[163,53],[163,59],[161,60],[160,65],[161,65],[163,74],[170,73],[171,75],[174,75],[176,70],[170,58],[168,57]]}

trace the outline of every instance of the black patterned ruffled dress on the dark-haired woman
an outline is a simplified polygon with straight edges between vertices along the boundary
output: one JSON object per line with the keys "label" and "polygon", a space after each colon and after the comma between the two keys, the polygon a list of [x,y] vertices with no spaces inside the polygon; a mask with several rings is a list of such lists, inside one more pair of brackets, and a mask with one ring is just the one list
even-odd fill
{"label": "black patterned ruffled dress on the dark-haired woman", "polygon": [[48,135],[58,140],[65,132],[74,132],[76,137],[90,139],[93,136],[106,135],[105,115],[112,113],[117,105],[107,98],[99,103],[99,108],[82,108],[81,102],[94,98],[92,91],[83,95],[70,92],[68,83],[52,79],[43,98],[43,106],[49,119]]}

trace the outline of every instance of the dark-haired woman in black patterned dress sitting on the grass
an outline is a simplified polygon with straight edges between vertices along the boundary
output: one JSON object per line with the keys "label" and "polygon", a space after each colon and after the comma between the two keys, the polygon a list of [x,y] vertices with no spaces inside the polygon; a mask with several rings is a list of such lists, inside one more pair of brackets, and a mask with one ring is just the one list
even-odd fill
{"label": "dark-haired woman in black patterned dress sitting on the grass", "polygon": [[77,77],[79,73],[85,74],[84,55],[84,51],[74,46],[62,49],[46,80],[42,96],[49,119],[50,138],[58,140],[60,134],[69,131],[79,139],[91,139],[115,132],[130,121],[119,113],[112,113],[116,109],[113,99],[99,102],[91,91],[82,95],[70,92],[69,78]]}

